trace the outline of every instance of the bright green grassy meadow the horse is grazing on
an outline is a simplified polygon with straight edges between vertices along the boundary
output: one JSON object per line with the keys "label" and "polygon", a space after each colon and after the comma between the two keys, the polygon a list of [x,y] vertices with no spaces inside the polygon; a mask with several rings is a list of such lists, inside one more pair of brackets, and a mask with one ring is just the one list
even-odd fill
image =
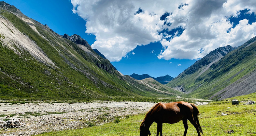
{"label": "bright green grassy meadow the horse is grazing on", "polygon": [[[243,105],[247,101],[256,101],[256,93],[236,97],[239,105],[232,105],[234,98],[198,106],[204,136],[251,136],[256,135],[256,104]],[[242,102],[244,101],[244,102]],[[222,116],[222,113],[227,114]],[[127,116],[100,126],[83,129],[43,133],[37,136],[139,136],[139,126],[145,114]],[[196,136],[196,129],[188,122],[187,136]],[[156,135],[157,124],[153,123],[150,131]],[[232,131],[233,132],[232,132]],[[231,133],[232,132],[232,133]],[[182,136],[182,121],[175,124],[163,124],[163,136]]]}

